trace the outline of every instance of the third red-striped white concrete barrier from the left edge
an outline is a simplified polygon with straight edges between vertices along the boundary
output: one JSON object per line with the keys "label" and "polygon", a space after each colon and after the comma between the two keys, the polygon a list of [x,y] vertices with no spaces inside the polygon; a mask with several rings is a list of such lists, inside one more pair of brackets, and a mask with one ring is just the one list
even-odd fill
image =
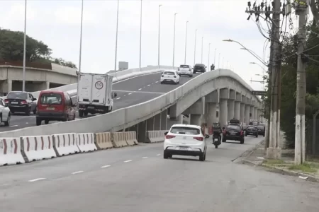
{"label": "third red-striped white concrete barrier from the left edge", "polygon": [[77,146],[77,134],[54,134],[52,135],[53,146],[57,156],[79,153]]}

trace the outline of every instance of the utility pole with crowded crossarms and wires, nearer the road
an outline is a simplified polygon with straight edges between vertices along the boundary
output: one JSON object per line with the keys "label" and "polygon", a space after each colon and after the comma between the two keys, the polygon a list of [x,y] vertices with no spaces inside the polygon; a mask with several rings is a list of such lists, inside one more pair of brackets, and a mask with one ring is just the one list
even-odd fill
{"label": "utility pole with crowded crossarms and wires, nearer the road", "polygon": [[[255,15],[256,21],[259,21],[259,17],[264,14],[265,20],[272,20],[272,32],[271,38],[271,57],[269,59],[269,88],[271,90],[271,103],[270,103],[270,120],[268,120],[268,138],[266,142],[267,147],[267,158],[269,159],[279,159],[281,158],[281,148],[279,144],[279,135],[280,135],[280,107],[281,107],[281,42],[280,42],[280,33],[281,33],[281,24],[280,24],[280,15],[288,15],[291,11],[286,13],[286,4],[283,5],[281,11],[281,1],[274,0],[272,1],[272,6],[267,6],[262,2],[259,6],[254,3],[253,5],[248,2],[248,8],[246,13],[249,13],[250,16],[247,20],[250,19],[252,14]],[[270,15],[272,14],[272,18]],[[268,134],[268,133],[267,133]]]}

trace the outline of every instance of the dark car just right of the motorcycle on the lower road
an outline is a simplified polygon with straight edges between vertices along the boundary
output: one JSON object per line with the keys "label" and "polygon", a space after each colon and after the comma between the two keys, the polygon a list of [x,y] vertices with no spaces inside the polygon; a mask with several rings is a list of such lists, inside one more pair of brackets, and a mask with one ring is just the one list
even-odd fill
{"label": "dark car just right of the motorcycle on the lower road", "polygon": [[245,135],[244,129],[240,124],[228,124],[226,128],[223,130],[223,142],[227,140],[231,141],[240,141],[240,143],[244,143]]}

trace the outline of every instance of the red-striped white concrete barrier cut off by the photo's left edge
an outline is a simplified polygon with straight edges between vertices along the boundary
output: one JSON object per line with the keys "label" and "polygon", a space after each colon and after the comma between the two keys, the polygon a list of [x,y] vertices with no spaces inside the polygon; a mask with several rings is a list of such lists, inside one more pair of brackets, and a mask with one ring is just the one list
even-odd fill
{"label": "red-striped white concrete barrier cut off by the photo's left edge", "polygon": [[24,162],[20,140],[18,138],[1,138],[0,165],[14,165]]}

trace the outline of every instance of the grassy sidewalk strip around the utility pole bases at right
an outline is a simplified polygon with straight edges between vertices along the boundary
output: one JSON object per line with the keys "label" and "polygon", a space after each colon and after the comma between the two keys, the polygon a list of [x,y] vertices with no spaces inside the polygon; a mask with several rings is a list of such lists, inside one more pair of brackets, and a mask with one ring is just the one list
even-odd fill
{"label": "grassy sidewalk strip around the utility pole bases at right", "polygon": [[267,170],[283,175],[293,175],[301,179],[319,182],[319,160],[308,160],[303,165],[294,165],[294,150],[281,150],[281,160],[267,160],[264,144],[257,144],[254,151],[250,152],[242,163],[266,167]]}

